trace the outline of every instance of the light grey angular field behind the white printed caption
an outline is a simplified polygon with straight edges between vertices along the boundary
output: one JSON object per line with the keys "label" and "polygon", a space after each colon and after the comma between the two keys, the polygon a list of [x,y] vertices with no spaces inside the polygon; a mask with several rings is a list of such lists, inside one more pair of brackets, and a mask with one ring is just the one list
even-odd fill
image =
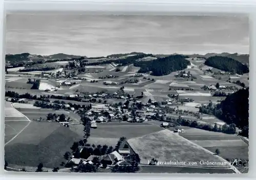
{"label": "light grey angular field behind the white printed caption", "polygon": [[161,162],[178,161],[185,162],[186,165],[194,162],[195,166],[228,167],[224,164],[201,165],[200,161],[224,162],[224,160],[167,129],[130,139],[128,143],[139,154],[142,164],[148,164],[148,160],[156,158]]}

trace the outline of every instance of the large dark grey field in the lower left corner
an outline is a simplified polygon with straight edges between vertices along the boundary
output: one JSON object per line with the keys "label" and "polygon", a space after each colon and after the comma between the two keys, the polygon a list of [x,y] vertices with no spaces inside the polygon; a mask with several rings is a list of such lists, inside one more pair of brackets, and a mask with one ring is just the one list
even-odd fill
{"label": "large dark grey field in the lower left corner", "polygon": [[[65,138],[64,138],[65,137]],[[5,146],[5,160],[9,164],[53,168],[64,161],[77,134],[59,123],[31,122],[11,143]],[[15,154],[15,155],[13,155]]]}

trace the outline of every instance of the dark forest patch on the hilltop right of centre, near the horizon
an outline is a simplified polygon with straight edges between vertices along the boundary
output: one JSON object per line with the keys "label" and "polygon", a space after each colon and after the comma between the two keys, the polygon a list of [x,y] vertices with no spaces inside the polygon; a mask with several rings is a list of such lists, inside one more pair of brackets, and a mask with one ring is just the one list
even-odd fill
{"label": "dark forest patch on the hilltop right of centre, near the horizon", "polygon": [[140,67],[138,73],[147,73],[152,71],[152,75],[154,76],[163,76],[174,71],[186,69],[190,62],[185,58],[187,57],[182,55],[171,55],[152,61],[135,62],[134,65]]}

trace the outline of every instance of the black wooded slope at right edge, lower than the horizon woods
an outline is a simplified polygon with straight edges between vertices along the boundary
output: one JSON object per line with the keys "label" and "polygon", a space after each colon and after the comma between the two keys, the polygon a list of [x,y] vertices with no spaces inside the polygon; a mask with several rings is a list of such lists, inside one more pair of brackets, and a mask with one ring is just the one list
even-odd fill
{"label": "black wooded slope at right edge, lower than the horizon woods", "polygon": [[225,100],[216,106],[210,102],[199,108],[200,113],[215,115],[227,124],[236,124],[242,130],[241,134],[248,137],[249,127],[249,87],[240,89],[228,95]]}

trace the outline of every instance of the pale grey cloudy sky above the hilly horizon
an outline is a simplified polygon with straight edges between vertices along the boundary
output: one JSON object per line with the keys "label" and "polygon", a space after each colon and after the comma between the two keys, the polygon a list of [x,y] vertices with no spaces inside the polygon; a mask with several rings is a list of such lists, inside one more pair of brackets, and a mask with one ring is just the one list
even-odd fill
{"label": "pale grey cloudy sky above the hilly horizon", "polygon": [[248,18],[8,14],[6,53],[99,57],[152,54],[249,54]]}

